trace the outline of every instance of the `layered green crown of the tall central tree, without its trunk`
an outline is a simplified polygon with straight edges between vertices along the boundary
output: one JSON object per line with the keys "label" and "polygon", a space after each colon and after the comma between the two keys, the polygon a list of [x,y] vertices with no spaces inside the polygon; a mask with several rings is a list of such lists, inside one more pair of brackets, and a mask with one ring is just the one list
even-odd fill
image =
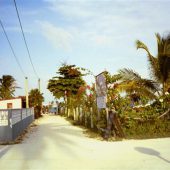
{"label": "layered green crown of the tall central tree, without its trunk", "polygon": [[47,89],[56,98],[76,95],[81,86],[85,85],[82,72],[83,68],[75,65],[62,64],[57,72],[57,76],[49,80]]}

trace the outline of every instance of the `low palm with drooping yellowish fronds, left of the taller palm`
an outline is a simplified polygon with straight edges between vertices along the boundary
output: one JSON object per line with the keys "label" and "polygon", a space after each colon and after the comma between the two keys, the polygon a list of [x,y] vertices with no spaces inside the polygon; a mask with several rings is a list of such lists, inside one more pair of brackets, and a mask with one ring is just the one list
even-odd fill
{"label": "low palm with drooping yellowish fronds, left of the taller palm", "polygon": [[153,80],[144,79],[138,73],[131,69],[119,70],[121,82],[118,85],[120,91],[126,91],[128,94],[155,99],[155,92],[159,91],[159,85]]}

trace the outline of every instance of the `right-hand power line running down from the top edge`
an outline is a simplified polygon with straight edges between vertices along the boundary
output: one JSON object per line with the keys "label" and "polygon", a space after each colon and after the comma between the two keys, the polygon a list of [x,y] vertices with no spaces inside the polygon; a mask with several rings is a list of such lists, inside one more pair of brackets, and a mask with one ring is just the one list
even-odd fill
{"label": "right-hand power line running down from the top edge", "polygon": [[20,24],[20,28],[21,28],[23,40],[24,40],[24,43],[25,43],[25,46],[26,46],[26,49],[27,49],[27,52],[28,52],[28,56],[29,56],[29,59],[30,59],[32,68],[33,68],[33,70],[34,70],[34,73],[35,73],[35,75],[36,75],[37,78],[38,78],[37,72],[36,72],[36,70],[35,70],[35,67],[34,67],[33,62],[32,62],[32,59],[31,59],[30,51],[29,51],[29,48],[28,48],[28,45],[27,45],[27,41],[26,41],[26,38],[25,38],[25,35],[24,35],[24,31],[23,31],[21,19],[20,19],[20,16],[19,16],[19,12],[18,12],[18,8],[17,8],[17,4],[16,4],[16,1],[15,1],[15,0],[14,0],[14,4],[15,4],[15,9],[16,9],[16,12],[17,12],[17,16],[18,16],[18,20],[19,20],[19,24]]}

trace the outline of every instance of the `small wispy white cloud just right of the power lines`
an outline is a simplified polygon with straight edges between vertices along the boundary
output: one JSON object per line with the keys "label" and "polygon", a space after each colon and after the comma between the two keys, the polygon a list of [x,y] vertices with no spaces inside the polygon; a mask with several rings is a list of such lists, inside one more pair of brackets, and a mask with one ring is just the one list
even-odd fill
{"label": "small wispy white cloud just right of the power lines", "polygon": [[73,40],[73,35],[67,30],[56,27],[49,22],[40,22],[41,30],[43,36],[47,38],[55,47],[62,48],[64,50],[71,49],[71,43]]}

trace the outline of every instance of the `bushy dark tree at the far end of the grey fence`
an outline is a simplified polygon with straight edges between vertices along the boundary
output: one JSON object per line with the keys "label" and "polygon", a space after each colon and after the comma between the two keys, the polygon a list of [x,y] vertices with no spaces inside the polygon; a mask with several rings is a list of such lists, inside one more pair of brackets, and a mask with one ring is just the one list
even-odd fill
{"label": "bushy dark tree at the far end of the grey fence", "polygon": [[29,92],[29,107],[34,107],[35,119],[41,117],[43,101],[44,101],[43,93],[40,93],[38,89],[32,89]]}

